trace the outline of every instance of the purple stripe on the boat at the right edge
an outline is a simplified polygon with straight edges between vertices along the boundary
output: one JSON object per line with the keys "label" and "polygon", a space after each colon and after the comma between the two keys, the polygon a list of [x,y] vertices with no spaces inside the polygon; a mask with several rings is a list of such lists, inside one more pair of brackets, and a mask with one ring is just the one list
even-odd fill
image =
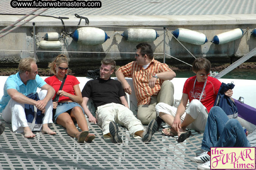
{"label": "purple stripe on the boat at the right edge", "polygon": [[251,107],[247,104],[242,104],[238,100],[234,99],[238,116],[242,119],[256,125],[256,108]]}

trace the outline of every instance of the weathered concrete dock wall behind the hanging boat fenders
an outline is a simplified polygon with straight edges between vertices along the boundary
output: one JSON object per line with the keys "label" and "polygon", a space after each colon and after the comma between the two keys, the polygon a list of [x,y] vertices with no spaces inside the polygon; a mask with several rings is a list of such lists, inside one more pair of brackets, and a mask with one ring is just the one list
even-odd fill
{"label": "weathered concrete dock wall behind the hanging boat fenders", "polygon": [[[21,15],[0,15],[0,29],[10,25],[10,23],[21,18]],[[58,17],[58,16],[56,16]],[[68,15],[68,20],[64,20],[67,32],[73,32],[79,19],[73,15]],[[230,59],[238,59],[256,47],[256,38],[251,36],[251,31],[256,28],[256,14],[244,15],[151,15],[151,16],[85,16],[89,19],[88,26],[95,26],[104,30],[110,39],[101,45],[85,46],[78,44],[71,37],[64,39],[61,49],[42,49],[36,47],[36,57],[40,63],[47,63],[60,53],[66,54],[71,62],[88,63],[101,60],[104,57],[111,57],[115,60],[130,60],[134,58],[137,42],[127,42],[121,35],[128,27],[154,28],[160,36],[149,42],[154,53],[163,53],[163,26],[169,31],[177,28],[187,28],[202,32],[209,42],[204,45],[193,45],[182,42],[182,44],[195,56],[207,57],[211,61],[229,63]],[[58,32],[61,34],[63,26],[61,20],[52,17],[36,17],[24,26],[9,33],[0,39],[0,64],[19,62],[20,58],[34,57],[33,47],[33,26],[36,23],[36,35],[38,40],[43,40],[47,32]],[[80,26],[85,26],[82,20]],[[79,27],[80,27],[79,26]],[[79,28],[78,27],[78,28]],[[216,34],[241,28],[244,31],[242,38],[223,45],[216,45],[210,41]],[[177,57],[185,62],[191,63],[194,57],[172,37],[170,32],[166,32],[166,54]],[[14,51],[13,51],[14,50]],[[47,52],[54,51],[54,52]],[[62,52],[61,52],[62,51]],[[86,53],[82,53],[86,52]],[[94,53],[89,53],[94,52]],[[97,52],[97,53],[95,53]],[[131,54],[130,54],[131,53]],[[156,58],[162,58],[163,54],[155,54]],[[168,55],[166,55],[168,58]],[[169,57],[170,58],[170,57]],[[255,57],[253,57],[255,58]],[[160,60],[160,59],[159,59]],[[175,59],[171,62],[179,63]]]}

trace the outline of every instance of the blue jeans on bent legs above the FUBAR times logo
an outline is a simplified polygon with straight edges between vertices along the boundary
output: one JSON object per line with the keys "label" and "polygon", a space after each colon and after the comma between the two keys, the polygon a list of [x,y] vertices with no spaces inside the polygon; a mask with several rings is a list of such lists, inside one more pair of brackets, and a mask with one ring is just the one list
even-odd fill
{"label": "blue jeans on bent legs above the FUBAR times logo", "polygon": [[212,107],[203,134],[202,149],[211,147],[250,147],[244,129],[236,119],[228,119],[220,107]]}

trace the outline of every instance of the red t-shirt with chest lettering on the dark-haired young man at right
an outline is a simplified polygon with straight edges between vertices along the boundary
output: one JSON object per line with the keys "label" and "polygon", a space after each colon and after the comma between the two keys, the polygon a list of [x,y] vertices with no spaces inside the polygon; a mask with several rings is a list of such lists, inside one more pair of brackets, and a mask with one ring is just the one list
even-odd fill
{"label": "red t-shirt with chest lettering on the dark-haired young man at right", "polygon": [[[188,94],[189,102],[191,102],[193,99],[198,99],[198,100],[200,99],[200,95],[203,90],[203,85],[205,83],[205,82],[197,82],[197,81],[195,82],[195,79],[196,79],[196,76],[188,78],[183,87],[183,93]],[[195,89],[194,89],[194,95],[193,95],[194,82],[195,82]],[[201,98],[201,103],[207,108],[208,113],[213,107],[220,85],[221,85],[221,82],[218,79],[213,77],[207,78],[205,90],[203,91],[203,96]]]}

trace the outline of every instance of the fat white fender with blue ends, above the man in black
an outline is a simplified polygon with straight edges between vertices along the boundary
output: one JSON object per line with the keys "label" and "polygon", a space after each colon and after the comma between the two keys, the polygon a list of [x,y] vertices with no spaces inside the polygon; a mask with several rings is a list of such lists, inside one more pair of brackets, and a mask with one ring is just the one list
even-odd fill
{"label": "fat white fender with blue ends, above the man in black", "polygon": [[72,35],[73,40],[82,45],[100,45],[110,37],[102,29],[95,27],[82,27],[76,29]]}

